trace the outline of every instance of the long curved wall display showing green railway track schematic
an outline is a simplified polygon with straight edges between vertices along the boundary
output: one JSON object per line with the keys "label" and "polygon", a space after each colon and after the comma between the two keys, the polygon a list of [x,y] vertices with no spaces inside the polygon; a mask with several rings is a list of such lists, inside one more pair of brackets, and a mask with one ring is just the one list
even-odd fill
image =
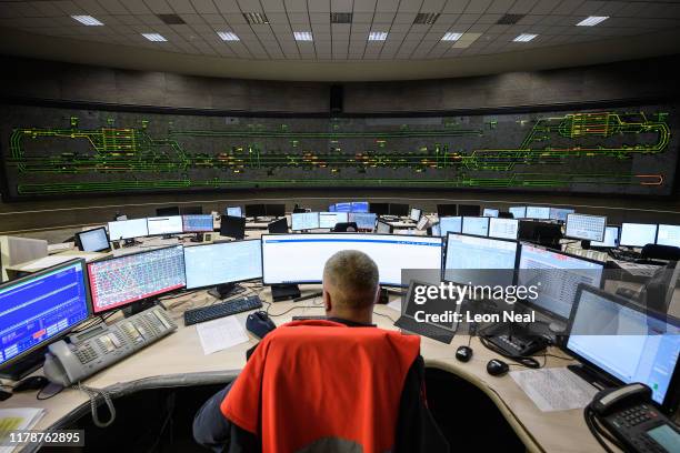
{"label": "long curved wall display showing green railway track schematic", "polygon": [[8,195],[432,188],[663,195],[674,107],[447,118],[236,118],[3,105]]}

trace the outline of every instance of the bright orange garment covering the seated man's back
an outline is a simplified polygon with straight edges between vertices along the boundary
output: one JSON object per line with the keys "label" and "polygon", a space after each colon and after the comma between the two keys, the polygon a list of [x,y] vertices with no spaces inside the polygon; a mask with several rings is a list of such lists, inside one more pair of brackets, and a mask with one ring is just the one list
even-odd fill
{"label": "bright orange garment covering the seated man's back", "polygon": [[394,443],[403,382],[419,348],[414,335],[293,322],[260,343],[222,413],[259,430],[264,452],[322,451],[338,442],[386,452]]}

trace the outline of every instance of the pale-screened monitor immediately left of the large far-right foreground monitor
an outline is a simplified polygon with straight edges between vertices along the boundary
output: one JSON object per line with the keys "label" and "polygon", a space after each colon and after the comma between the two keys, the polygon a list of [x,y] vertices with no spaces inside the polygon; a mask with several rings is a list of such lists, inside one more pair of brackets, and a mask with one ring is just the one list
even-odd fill
{"label": "pale-screened monitor immediately left of the large far-right foreground monitor", "polygon": [[522,243],[518,268],[518,284],[539,289],[538,298],[524,303],[554,320],[566,321],[571,313],[578,284],[600,286],[603,264]]}

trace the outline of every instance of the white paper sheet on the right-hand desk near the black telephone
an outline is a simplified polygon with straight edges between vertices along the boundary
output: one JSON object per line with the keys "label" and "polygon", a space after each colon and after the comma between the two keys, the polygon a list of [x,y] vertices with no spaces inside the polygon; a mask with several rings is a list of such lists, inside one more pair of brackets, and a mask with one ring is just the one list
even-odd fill
{"label": "white paper sheet on the right-hand desk near the black telephone", "polygon": [[566,368],[512,371],[510,376],[542,412],[586,407],[598,392]]}

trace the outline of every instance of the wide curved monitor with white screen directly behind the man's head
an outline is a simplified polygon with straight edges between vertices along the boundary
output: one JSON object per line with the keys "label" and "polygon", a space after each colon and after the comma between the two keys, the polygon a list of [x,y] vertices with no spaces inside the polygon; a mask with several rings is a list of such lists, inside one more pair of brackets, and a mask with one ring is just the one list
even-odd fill
{"label": "wide curved monitor with white screen directly behind the man's head", "polygon": [[[359,250],[378,265],[380,283],[401,286],[403,269],[441,266],[441,238],[364,234],[262,235],[264,284],[320,283],[326,261],[341,250]],[[398,259],[396,259],[398,258]]]}

